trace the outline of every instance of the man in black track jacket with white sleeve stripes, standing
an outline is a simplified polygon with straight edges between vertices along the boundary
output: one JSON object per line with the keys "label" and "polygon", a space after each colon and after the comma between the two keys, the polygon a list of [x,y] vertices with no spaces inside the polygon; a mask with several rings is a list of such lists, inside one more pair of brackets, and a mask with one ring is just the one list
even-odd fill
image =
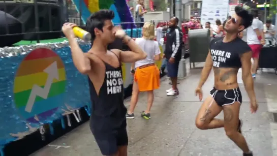
{"label": "man in black track jacket with white sleeve stripes, standing", "polygon": [[172,17],[168,23],[170,28],[169,33],[166,35],[166,45],[163,57],[167,60],[167,75],[170,77],[172,87],[168,90],[167,96],[175,96],[179,94],[177,88],[177,75],[179,68],[179,61],[182,55],[182,31],[177,26],[179,19]]}

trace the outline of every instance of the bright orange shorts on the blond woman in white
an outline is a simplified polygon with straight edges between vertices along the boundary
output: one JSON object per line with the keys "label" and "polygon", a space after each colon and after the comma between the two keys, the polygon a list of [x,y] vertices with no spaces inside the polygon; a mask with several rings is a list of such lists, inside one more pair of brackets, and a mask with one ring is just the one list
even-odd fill
{"label": "bright orange shorts on the blond woman in white", "polygon": [[155,64],[137,67],[134,81],[138,83],[139,91],[158,89],[160,87],[160,70]]}

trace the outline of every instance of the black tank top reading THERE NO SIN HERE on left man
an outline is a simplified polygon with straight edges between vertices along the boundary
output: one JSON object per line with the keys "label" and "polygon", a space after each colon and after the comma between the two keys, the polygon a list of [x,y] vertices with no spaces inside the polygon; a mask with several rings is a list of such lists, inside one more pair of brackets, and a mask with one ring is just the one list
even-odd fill
{"label": "black tank top reading THERE NO SIN HERE on left man", "polygon": [[127,113],[127,109],[124,105],[124,88],[121,64],[119,67],[114,68],[105,63],[105,61],[103,62],[105,64],[106,71],[99,95],[97,95],[95,87],[88,77],[90,100],[92,105],[90,128],[92,131],[99,130],[101,132],[126,127]]}

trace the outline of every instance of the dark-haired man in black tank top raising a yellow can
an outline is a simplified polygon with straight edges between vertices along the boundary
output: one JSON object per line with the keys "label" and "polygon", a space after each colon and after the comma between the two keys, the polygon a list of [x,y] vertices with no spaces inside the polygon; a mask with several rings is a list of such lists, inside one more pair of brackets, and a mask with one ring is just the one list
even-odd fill
{"label": "dark-haired man in black tank top raising a yellow can", "polygon": [[[114,13],[101,10],[87,19],[87,30],[94,41],[83,53],[75,40],[73,23],[65,23],[63,32],[71,47],[73,63],[78,71],[88,75],[92,112],[90,130],[103,155],[126,156],[128,135],[127,109],[123,104],[124,88],[121,62],[134,63],[146,58],[146,53],[119,27],[114,27]],[[107,50],[116,38],[122,39],[132,51]]]}

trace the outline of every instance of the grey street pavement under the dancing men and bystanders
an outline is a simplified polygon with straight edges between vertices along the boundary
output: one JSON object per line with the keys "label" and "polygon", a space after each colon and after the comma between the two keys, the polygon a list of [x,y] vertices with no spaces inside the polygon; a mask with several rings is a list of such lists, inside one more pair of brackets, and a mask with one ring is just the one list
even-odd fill
{"label": "grey street pavement under the dancing men and bystanders", "polygon": [[[196,64],[196,67],[203,63]],[[187,66],[189,67],[189,66]],[[195,117],[202,104],[195,97],[194,89],[198,84],[201,69],[188,69],[188,76],[180,79],[179,96],[167,97],[169,80],[162,78],[160,89],[155,91],[155,102],[151,109],[151,119],[140,117],[146,108],[147,95],[141,93],[135,109],[135,119],[128,119],[128,154],[149,156],[227,156],[242,155],[241,150],[225,135],[224,129],[198,130]],[[250,102],[238,73],[243,103],[240,118],[243,120],[242,133],[254,155],[277,156],[277,123],[273,123],[272,113],[277,109],[277,75],[273,72],[259,72],[255,80],[255,91],[259,109],[250,112]],[[213,73],[203,86],[204,98],[213,86]],[[129,107],[130,99],[126,100]],[[219,114],[223,118],[223,114]],[[98,156],[101,152],[86,122],[72,132],[53,141],[32,156]]]}

